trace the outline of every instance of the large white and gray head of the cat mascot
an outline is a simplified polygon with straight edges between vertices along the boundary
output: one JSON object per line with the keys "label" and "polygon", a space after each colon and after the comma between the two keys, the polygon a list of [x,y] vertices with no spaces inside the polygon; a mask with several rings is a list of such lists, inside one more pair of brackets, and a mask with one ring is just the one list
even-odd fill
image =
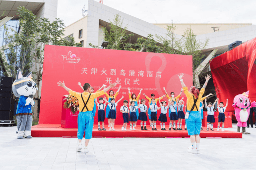
{"label": "large white and gray head of the cat mascot", "polygon": [[17,72],[17,77],[12,84],[12,91],[16,97],[35,95],[36,90],[38,90],[37,85],[32,80],[32,72],[30,72],[26,77],[22,76],[21,70]]}

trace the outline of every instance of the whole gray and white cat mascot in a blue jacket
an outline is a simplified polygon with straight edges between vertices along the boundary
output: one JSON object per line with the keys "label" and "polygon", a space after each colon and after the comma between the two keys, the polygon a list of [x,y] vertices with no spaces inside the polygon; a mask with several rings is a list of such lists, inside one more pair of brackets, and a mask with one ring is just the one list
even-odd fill
{"label": "whole gray and white cat mascot in a blue jacket", "polygon": [[22,72],[19,69],[17,77],[12,84],[12,91],[16,97],[19,97],[19,102],[16,111],[16,119],[18,126],[18,139],[32,138],[31,126],[32,126],[32,109],[35,103],[33,100],[34,95],[38,90],[35,82],[32,80],[32,72],[26,77],[22,76]]}

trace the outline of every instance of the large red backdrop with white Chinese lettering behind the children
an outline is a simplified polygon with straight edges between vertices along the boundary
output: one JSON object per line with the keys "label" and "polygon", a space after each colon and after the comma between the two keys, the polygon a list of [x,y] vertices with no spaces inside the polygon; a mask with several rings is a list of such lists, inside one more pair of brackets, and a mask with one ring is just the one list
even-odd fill
{"label": "large red backdrop with white Chinese lettering behind the children", "polygon": [[[68,88],[77,92],[83,91],[78,82],[90,83],[95,91],[103,84],[116,82],[114,91],[122,85],[116,99],[124,96],[123,100],[128,100],[128,87],[136,95],[143,88],[140,99],[145,98],[143,92],[147,96],[154,93],[156,98],[162,96],[163,87],[177,96],[181,91],[180,73],[185,74],[185,84],[192,85],[192,56],[45,45],[39,124],[61,124],[62,98],[67,91],[57,85],[58,81],[64,81]],[[187,101],[184,93],[182,96]],[[117,106],[117,125],[123,124],[120,112],[123,100]],[[97,111],[98,107],[95,124]]]}

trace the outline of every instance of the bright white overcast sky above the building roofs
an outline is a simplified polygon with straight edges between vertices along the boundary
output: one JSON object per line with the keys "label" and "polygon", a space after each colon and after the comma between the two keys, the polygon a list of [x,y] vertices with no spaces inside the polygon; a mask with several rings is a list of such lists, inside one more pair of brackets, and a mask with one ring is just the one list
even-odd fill
{"label": "bright white overcast sky above the building roofs", "polygon": [[[99,0],[97,0],[99,1]],[[104,0],[104,4],[149,23],[252,23],[256,0]],[[65,26],[82,18],[88,0],[58,0]]]}

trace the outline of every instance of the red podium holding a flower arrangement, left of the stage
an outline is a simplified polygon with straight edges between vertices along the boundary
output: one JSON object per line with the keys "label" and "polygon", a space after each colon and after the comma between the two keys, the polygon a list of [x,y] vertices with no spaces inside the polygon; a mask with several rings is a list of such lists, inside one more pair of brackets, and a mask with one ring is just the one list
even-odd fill
{"label": "red podium holding a flower arrangement, left of the stage", "polygon": [[62,127],[63,128],[77,128],[77,117],[79,114],[79,111],[77,111],[75,114],[71,112],[70,109],[64,109],[64,96],[62,99]]}

